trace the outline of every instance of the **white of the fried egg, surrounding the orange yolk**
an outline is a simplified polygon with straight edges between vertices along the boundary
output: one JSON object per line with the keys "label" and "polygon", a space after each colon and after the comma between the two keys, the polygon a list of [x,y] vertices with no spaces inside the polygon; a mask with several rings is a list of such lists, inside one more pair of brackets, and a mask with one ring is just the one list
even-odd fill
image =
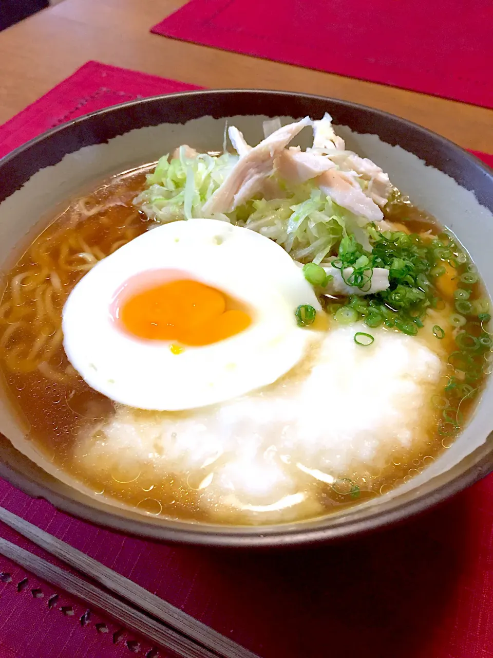
{"label": "white of the fried egg, surrounding the orange yolk", "polygon": [[[116,292],[133,276],[166,268],[245,303],[252,324],[179,354],[170,342],[122,331],[110,315]],[[204,407],[271,384],[302,359],[315,332],[296,326],[300,304],[320,309],[275,242],[218,220],[178,221],[135,238],[85,274],[63,309],[64,349],[87,384],[114,401],[158,411]]]}

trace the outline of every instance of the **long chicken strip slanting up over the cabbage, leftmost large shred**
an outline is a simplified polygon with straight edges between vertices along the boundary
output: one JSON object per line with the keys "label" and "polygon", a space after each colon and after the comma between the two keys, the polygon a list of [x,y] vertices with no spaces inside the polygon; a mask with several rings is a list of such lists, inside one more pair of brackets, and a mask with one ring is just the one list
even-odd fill
{"label": "long chicken strip slanting up over the cabbage, leftmost large shred", "polygon": [[204,204],[204,216],[229,213],[262,190],[264,181],[273,173],[275,156],[300,130],[311,123],[310,117],[306,116],[298,122],[283,126],[241,156],[222,185]]}

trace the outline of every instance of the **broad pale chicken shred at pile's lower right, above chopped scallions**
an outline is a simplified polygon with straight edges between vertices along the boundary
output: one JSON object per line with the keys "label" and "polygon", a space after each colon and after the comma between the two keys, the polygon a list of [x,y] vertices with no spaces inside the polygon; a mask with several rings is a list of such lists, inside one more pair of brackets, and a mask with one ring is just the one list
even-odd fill
{"label": "broad pale chicken shred at pile's lower right, above chopped scallions", "polygon": [[324,194],[354,215],[365,217],[369,222],[383,219],[381,209],[365,195],[358,183],[358,175],[354,172],[329,169],[318,176],[315,182]]}

